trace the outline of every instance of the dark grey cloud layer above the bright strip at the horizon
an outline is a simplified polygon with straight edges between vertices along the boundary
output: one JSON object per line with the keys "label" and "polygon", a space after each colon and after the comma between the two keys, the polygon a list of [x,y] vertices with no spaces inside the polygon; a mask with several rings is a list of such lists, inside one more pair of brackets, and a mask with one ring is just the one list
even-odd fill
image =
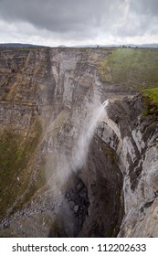
{"label": "dark grey cloud layer above the bright strip at the horizon", "polygon": [[158,35],[158,1],[0,0],[0,19],[67,39]]}

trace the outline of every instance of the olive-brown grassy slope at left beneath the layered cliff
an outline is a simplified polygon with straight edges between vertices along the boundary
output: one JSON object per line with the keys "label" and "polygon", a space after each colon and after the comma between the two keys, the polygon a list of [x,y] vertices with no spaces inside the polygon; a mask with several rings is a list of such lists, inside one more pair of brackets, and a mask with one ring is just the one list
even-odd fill
{"label": "olive-brown grassy slope at left beneath the layered cliff", "polygon": [[30,132],[34,133],[33,137],[24,138],[23,133],[14,132],[12,128],[0,134],[0,219],[28,186],[31,174],[27,165],[35,153],[41,133],[38,121],[32,124]]}

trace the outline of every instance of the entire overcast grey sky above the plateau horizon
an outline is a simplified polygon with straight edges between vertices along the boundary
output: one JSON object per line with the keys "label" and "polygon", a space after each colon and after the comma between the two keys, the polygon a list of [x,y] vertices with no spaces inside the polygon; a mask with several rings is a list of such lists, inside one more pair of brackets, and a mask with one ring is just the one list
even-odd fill
{"label": "entire overcast grey sky above the plateau horizon", "polygon": [[0,43],[158,43],[158,0],[0,0]]}

